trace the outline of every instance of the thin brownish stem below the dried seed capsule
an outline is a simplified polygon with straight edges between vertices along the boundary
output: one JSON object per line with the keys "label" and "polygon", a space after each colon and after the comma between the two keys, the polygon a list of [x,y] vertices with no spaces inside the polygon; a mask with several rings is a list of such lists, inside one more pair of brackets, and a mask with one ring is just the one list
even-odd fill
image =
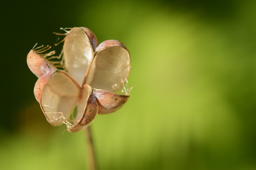
{"label": "thin brownish stem below the dried seed capsule", "polygon": [[90,126],[85,129],[88,170],[97,170]]}

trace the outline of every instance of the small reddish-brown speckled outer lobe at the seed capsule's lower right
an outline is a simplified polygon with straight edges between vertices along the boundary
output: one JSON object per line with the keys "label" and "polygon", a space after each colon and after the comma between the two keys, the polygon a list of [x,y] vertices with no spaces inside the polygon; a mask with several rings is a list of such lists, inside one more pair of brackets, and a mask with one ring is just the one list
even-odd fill
{"label": "small reddish-brown speckled outer lobe at the seed capsule's lower right", "polygon": [[118,95],[106,90],[94,89],[94,96],[97,98],[99,113],[112,113],[120,109],[128,100],[130,96]]}

